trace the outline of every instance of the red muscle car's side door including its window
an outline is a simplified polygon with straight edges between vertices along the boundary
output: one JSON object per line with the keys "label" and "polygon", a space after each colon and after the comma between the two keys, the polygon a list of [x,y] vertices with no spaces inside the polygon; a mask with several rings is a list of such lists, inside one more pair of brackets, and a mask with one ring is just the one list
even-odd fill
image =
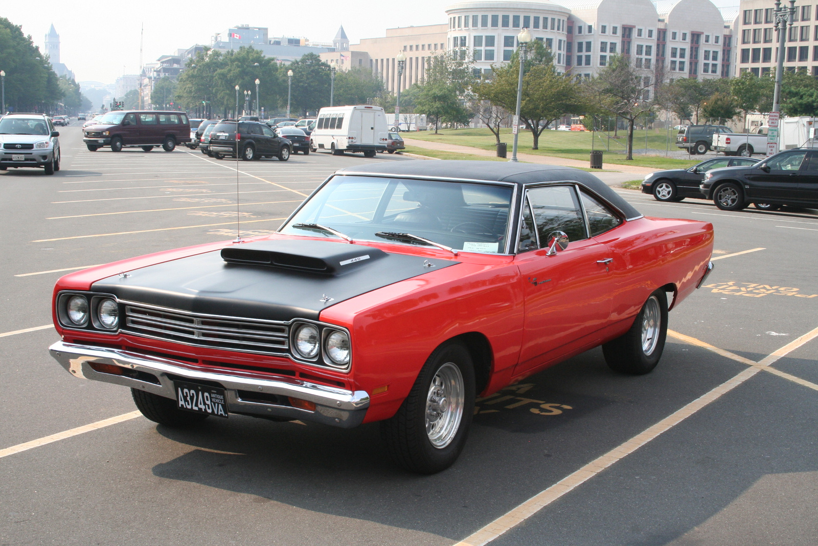
{"label": "red muscle car's side door including its window", "polygon": [[[515,373],[587,344],[611,310],[605,264],[610,253],[588,236],[573,184],[528,188],[521,226],[515,264],[523,283],[525,327]],[[550,252],[549,235],[557,230],[569,236],[569,245]]]}

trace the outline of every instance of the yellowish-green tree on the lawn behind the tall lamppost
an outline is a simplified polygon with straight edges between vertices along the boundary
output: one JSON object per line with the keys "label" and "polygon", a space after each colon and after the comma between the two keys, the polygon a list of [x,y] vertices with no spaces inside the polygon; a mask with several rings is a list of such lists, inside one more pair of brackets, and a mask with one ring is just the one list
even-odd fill
{"label": "yellowish-green tree on the lawn behind the tall lamppost", "polygon": [[[531,56],[524,63],[523,93],[519,117],[533,137],[532,150],[539,149],[539,138],[548,124],[564,114],[584,110],[579,85],[569,74],[560,74],[554,66],[554,56],[540,42],[531,45]],[[492,66],[491,81],[476,86],[478,97],[501,106],[509,112],[517,108],[519,55],[503,66]],[[498,137],[497,134],[495,134]],[[498,138],[499,141],[499,138]]]}

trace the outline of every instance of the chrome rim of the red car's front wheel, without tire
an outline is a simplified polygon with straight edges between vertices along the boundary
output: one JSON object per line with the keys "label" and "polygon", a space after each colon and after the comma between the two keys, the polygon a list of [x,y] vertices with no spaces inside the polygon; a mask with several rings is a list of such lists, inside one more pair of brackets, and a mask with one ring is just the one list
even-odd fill
{"label": "chrome rim of the red car's front wheel, without tire", "polygon": [[463,417],[465,386],[460,368],[447,362],[438,368],[426,395],[426,435],[437,449],[452,442]]}

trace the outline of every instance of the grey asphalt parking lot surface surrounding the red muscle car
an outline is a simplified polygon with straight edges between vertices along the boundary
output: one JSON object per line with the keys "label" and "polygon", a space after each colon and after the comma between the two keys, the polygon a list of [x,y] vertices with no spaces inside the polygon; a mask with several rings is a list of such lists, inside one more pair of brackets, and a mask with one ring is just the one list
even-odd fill
{"label": "grey asphalt parking lot surface surrounding the red muscle car", "polygon": [[0,174],[0,545],[816,544],[816,211],[621,190],[716,229],[716,269],[671,311],[658,368],[620,376],[597,349],[507,387],[479,400],[452,468],[416,476],[376,424],[174,430],[47,352],[61,274],[235,238],[237,198],[242,235],[270,232],[335,169],[407,158],[237,164],[61,133],[59,173]]}

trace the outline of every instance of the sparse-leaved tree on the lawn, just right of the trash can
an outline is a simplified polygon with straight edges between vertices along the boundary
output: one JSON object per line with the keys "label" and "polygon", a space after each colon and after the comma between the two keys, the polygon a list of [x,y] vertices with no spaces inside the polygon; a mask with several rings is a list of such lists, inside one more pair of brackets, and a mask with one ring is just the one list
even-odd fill
{"label": "sparse-leaved tree on the lawn, just right of the trash can", "polygon": [[603,111],[627,120],[627,160],[633,159],[633,126],[636,118],[655,111],[657,87],[651,70],[631,65],[627,56],[612,56],[595,78],[584,82],[587,101]]}

